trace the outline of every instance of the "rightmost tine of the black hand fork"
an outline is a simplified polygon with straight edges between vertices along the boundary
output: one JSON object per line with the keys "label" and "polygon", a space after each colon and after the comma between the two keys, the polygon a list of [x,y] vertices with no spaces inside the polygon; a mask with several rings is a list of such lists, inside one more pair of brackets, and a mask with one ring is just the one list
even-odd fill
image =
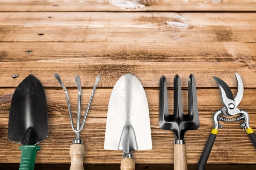
{"label": "rightmost tine of the black hand fork", "polygon": [[196,94],[196,85],[195,85],[195,77],[193,74],[190,74],[188,79],[188,92],[189,92],[189,113],[188,115],[193,118],[193,121],[199,120],[198,115],[198,101]]}

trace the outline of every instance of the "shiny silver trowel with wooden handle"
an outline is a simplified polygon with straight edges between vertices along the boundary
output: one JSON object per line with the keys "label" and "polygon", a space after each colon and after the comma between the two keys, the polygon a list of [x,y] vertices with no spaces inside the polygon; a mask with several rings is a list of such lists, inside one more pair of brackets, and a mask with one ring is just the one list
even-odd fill
{"label": "shiny silver trowel with wooden handle", "polygon": [[135,170],[134,150],[152,149],[147,97],[132,74],[120,77],[111,93],[104,149],[124,152],[121,170]]}

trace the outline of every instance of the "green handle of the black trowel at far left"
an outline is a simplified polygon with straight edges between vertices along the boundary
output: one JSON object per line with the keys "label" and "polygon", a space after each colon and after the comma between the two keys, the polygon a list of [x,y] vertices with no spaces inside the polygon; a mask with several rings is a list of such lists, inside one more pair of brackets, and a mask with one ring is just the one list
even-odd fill
{"label": "green handle of the black trowel at far left", "polygon": [[40,147],[27,144],[19,147],[19,150],[21,150],[19,170],[34,170],[36,152]]}

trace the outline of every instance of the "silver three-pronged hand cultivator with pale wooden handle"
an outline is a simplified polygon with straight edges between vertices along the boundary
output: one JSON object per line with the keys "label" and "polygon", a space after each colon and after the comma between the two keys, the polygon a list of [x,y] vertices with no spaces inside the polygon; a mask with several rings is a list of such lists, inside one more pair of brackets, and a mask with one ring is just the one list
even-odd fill
{"label": "silver three-pronged hand cultivator with pale wooden handle", "polygon": [[84,165],[83,165],[84,144],[83,144],[83,140],[80,139],[80,132],[84,127],[85,120],[87,118],[88,111],[90,109],[90,104],[93,99],[93,94],[94,94],[94,91],[95,91],[97,84],[100,80],[100,76],[96,77],[95,84],[93,86],[93,91],[91,93],[87,109],[85,111],[83,122],[82,122],[82,125],[80,126],[82,88],[81,88],[81,79],[78,75],[76,75],[75,80],[76,80],[76,85],[77,85],[77,90],[78,90],[76,128],[74,126],[74,121],[73,121],[73,116],[72,116],[72,111],[71,111],[71,106],[70,106],[70,100],[69,100],[68,93],[67,93],[67,88],[64,86],[63,82],[61,81],[61,78],[59,77],[59,75],[57,73],[55,73],[54,76],[58,80],[58,82],[61,84],[61,87],[63,88],[63,90],[65,91],[66,99],[67,99],[67,107],[68,107],[68,111],[69,111],[69,115],[70,115],[71,127],[72,127],[73,131],[76,133],[76,139],[72,140],[72,144],[70,146],[70,158],[71,158],[70,170],[84,170]]}

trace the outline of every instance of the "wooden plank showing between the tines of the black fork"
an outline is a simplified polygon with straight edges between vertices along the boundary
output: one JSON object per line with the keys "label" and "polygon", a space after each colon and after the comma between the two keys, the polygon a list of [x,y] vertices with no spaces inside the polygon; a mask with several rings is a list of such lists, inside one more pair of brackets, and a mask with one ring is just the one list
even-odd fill
{"label": "wooden plank showing between the tines of the black fork", "polygon": [[[12,94],[15,91],[14,88],[0,88],[0,117],[8,118],[10,103],[12,100]],[[102,118],[107,117],[108,102],[111,95],[112,88],[101,89],[97,88],[93,97],[93,102],[90,107],[90,118]],[[236,89],[232,89],[233,94],[236,94]],[[62,88],[50,88],[45,89],[47,96],[47,106],[49,117],[69,117],[67,101],[65,93]],[[158,117],[159,111],[159,90],[158,89],[145,89],[148,107],[151,115]],[[77,109],[77,90],[72,88],[68,89],[69,98],[71,102],[71,110],[76,113]],[[82,113],[87,108],[87,103],[90,98],[91,89],[82,90]],[[182,90],[183,95],[183,110],[187,112],[188,105],[188,91]],[[222,108],[221,96],[218,89],[197,89],[198,95],[198,109],[200,115],[209,118],[209,124],[212,125],[212,114]],[[173,90],[168,91],[169,112],[173,112]],[[239,104],[239,108],[247,111],[250,114],[255,113],[254,103],[256,101],[255,89],[244,89],[244,97]],[[229,125],[227,125],[229,126]],[[256,125],[255,125],[256,127]]]}

